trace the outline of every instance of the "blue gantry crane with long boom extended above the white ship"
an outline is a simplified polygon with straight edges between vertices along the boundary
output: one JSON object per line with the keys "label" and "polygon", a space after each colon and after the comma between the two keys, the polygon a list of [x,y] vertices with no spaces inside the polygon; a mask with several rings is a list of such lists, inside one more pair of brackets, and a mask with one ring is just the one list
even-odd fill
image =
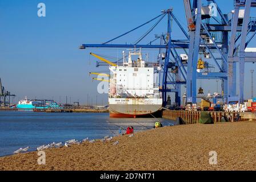
{"label": "blue gantry crane with long boom extended above the white ship", "polygon": [[[167,33],[162,34],[160,36],[156,36],[153,41],[150,41],[148,44],[139,44],[154,28],[162,21],[163,18],[167,16]],[[114,40],[121,38],[145,26],[146,24],[157,20],[157,22],[151,27],[145,34],[143,34],[134,44],[109,44]],[[174,20],[178,27],[181,28],[181,31],[185,35],[186,39],[184,40],[174,40],[171,38],[171,22]],[[156,40],[160,39],[160,44],[152,44]],[[103,44],[83,44],[80,49],[85,48],[153,48],[159,50],[165,50],[164,61],[162,59],[158,59],[158,63],[162,67],[162,71],[160,73],[162,81],[161,81],[161,92],[163,95],[163,105],[166,105],[167,101],[167,93],[174,92],[175,93],[175,102],[177,105],[181,104],[181,85],[186,84],[186,69],[183,65],[180,56],[178,55],[177,49],[187,49],[189,48],[189,35],[187,31],[181,26],[178,22],[177,18],[173,14],[173,9],[162,10],[161,14],[156,16],[155,18],[147,21],[146,23],[141,24],[138,27],[133,28],[133,30],[125,32],[125,34],[119,35],[114,39],[111,39]],[[159,51],[160,53],[161,51]],[[171,72],[170,69],[174,69],[174,72]],[[170,85],[170,86],[168,86]]]}

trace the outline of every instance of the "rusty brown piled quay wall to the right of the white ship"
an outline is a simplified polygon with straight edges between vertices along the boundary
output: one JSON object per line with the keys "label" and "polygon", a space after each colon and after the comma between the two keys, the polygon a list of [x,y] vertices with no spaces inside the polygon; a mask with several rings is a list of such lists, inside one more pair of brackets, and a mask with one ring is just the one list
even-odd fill
{"label": "rusty brown piled quay wall to the right of the white ship", "polygon": [[[199,123],[202,111],[187,111],[187,110],[164,110],[162,117],[165,119],[171,119],[175,121],[178,117],[181,117],[187,124]],[[221,122],[222,117],[227,117],[230,122],[235,121],[235,112],[225,111],[209,111],[214,123]],[[241,121],[256,121],[256,113],[245,112],[239,113]]]}

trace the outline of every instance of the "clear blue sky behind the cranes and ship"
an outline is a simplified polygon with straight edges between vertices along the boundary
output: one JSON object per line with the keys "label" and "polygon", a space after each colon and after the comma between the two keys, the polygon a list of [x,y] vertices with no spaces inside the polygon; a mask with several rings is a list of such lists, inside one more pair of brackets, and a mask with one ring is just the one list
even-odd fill
{"label": "clear blue sky behind the cranes and ship", "polygon": [[[46,5],[46,17],[39,18],[37,6],[41,2]],[[233,9],[232,0],[217,2],[223,13],[229,13]],[[123,49],[80,50],[78,47],[83,43],[103,43],[110,40],[170,7],[173,7],[173,13],[186,28],[183,1],[177,0],[0,0],[2,84],[6,90],[17,95],[14,102],[25,96],[66,102],[67,96],[68,102],[71,98],[71,102],[87,104],[88,94],[89,103],[93,99],[95,104],[97,96],[98,104],[106,105],[107,94],[97,93],[98,82],[92,81],[89,72],[105,72],[108,68],[97,68],[97,59],[89,53],[120,58]],[[133,43],[152,25],[113,43]],[[153,40],[154,34],[165,32],[166,21],[162,21],[142,43]],[[175,24],[172,38],[184,38]],[[255,40],[249,46],[256,47]],[[149,53],[151,61],[156,60],[155,51],[146,49],[144,53]],[[245,67],[246,98],[250,98],[251,93],[250,69],[256,71],[256,64],[247,63]],[[199,85],[204,86],[205,92],[216,90],[214,80],[203,80],[198,82]],[[218,88],[220,90],[220,85]],[[255,88],[256,86],[254,93]]]}

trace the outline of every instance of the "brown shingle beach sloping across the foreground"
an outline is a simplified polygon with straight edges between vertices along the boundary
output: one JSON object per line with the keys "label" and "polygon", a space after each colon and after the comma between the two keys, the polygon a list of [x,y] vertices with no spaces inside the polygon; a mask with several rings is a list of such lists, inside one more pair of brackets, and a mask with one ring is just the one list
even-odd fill
{"label": "brown shingle beach sloping across the foreground", "polygon": [[[0,170],[255,170],[255,136],[255,122],[162,127],[50,148],[45,165],[37,164],[37,151],[3,156]],[[210,151],[217,152],[217,165],[209,164]]]}

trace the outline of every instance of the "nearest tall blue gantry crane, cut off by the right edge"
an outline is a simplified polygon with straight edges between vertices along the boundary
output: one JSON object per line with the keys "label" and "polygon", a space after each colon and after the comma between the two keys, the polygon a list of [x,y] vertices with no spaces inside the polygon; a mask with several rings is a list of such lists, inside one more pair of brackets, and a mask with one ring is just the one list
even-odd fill
{"label": "nearest tall blue gantry crane, cut off by the right edge", "polygon": [[[195,29],[190,30],[190,48],[189,48],[189,60],[187,65],[187,102],[195,104],[197,102],[197,80],[198,79],[221,79],[222,80],[222,97],[224,102],[243,102],[243,90],[244,90],[244,65],[245,62],[254,62],[256,60],[256,52],[245,52],[245,48],[253,39],[256,31],[255,20],[250,18],[250,9],[255,7],[255,0],[242,0],[234,1],[234,12],[230,14],[223,14],[219,9],[215,0],[207,0],[208,5],[202,7],[201,0],[193,1],[193,8],[191,15],[195,24]],[[217,20],[213,15],[207,16],[206,10],[214,6],[218,14],[221,16],[221,20]],[[241,7],[244,7],[243,11],[239,11]],[[201,9],[202,11],[198,11]],[[205,11],[203,11],[205,10]],[[242,17],[239,17],[242,14]],[[214,19],[215,22],[211,23],[209,19]],[[240,20],[240,22],[238,21]],[[189,20],[188,20],[189,21]],[[215,42],[212,32],[218,32],[221,36],[221,42]],[[240,32],[237,34],[237,32]],[[252,35],[247,39],[249,33]],[[203,35],[206,35],[211,44],[205,42],[202,39]],[[229,39],[230,36],[230,39]],[[219,45],[218,45],[219,44]],[[202,46],[203,45],[203,46]],[[212,53],[209,49],[209,45],[214,46],[217,50],[217,55]],[[198,73],[197,61],[201,47],[206,48],[210,53],[215,64],[219,68],[218,72],[214,73]],[[216,57],[219,56],[220,59]],[[237,63],[239,63],[239,82],[236,78]],[[236,93],[237,82],[239,83],[239,94]]]}

